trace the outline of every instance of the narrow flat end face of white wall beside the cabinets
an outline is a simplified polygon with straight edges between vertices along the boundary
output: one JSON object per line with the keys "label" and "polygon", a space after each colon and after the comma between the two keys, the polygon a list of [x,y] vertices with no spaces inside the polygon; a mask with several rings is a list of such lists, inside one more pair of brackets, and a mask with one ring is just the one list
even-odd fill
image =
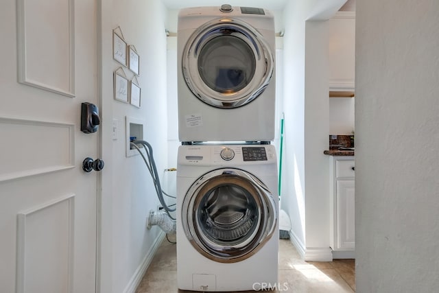
{"label": "narrow flat end face of white wall beside the cabinets", "polygon": [[[305,224],[306,259],[331,260],[329,249],[328,21],[305,23]],[[316,250],[316,251],[313,251]],[[308,257],[308,255],[310,255]]]}

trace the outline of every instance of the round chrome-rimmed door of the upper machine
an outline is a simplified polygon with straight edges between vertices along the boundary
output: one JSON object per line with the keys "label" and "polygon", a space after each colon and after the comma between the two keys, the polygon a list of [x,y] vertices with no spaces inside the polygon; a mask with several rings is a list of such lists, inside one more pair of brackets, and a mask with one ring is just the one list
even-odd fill
{"label": "round chrome-rimmed door of the upper machine", "polygon": [[274,58],[263,36],[237,19],[217,19],[198,28],[182,56],[192,93],[217,108],[244,106],[270,83]]}

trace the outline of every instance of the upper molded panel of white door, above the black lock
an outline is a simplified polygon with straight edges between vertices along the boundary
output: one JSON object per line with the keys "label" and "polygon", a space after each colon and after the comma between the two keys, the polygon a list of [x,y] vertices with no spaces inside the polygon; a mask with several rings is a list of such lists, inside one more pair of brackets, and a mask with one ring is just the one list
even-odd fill
{"label": "upper molded panel of white door, above the black lock", "polygon": [[[74,0],[51,1],[57,7],[51,8],[55,14],[49,17],[38,14],[40,10],[32,9],[33,5],[40,2],[16,1],[18,81],[75,97]],[[52,30],[47,30],[48,21]],[[54,45],[53,40],[58,43]]]}

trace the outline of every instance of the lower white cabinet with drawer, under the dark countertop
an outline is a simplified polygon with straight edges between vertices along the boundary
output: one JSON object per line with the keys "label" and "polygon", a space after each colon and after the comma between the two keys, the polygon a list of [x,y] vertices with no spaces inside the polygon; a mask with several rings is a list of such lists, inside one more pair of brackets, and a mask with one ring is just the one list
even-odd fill
{"label": "lower white cabinet with drawer, under the dark countertop", "polygon": [[333,156],[330,243],[334,258],[355,258],[355,160]]}

